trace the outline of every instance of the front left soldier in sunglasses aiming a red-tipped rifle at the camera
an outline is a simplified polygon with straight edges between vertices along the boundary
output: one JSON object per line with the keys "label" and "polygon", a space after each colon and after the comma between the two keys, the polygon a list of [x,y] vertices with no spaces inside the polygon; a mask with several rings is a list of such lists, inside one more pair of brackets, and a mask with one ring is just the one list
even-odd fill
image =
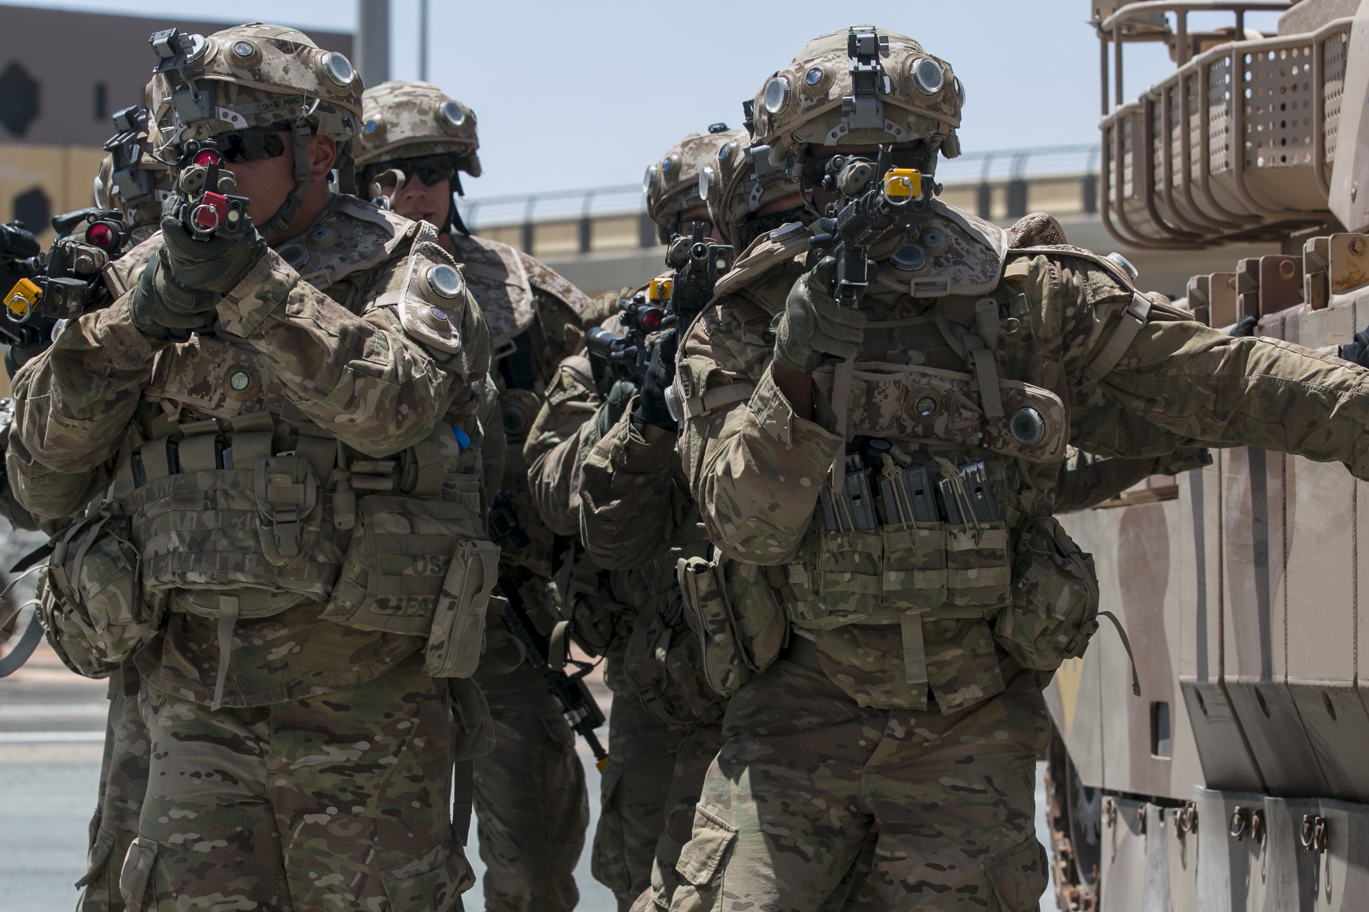
{"label": "front left soldier in sunglasses aiming a red-tipped rifle at the camera", "polygon": [[[152,42],[159,157],[248,220],[188,227],[171,200],[137,286],[19,371],[7,459],[38,513],[45,470],[114,466],[41,611],[88,673],[133,655],[142,675],[149,789],[119,890],[130,909],[459,908],[442,677],[474,670],[494,584],[489,331],[431,226],[330,193],[361,122],[342,55],[260,23]],[[218,185],[190,145],[211,138]]]}

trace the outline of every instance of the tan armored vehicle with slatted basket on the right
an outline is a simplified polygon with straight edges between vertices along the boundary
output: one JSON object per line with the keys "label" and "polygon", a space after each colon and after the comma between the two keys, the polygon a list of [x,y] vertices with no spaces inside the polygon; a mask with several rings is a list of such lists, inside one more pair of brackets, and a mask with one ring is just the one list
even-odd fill
{"label": "tan armored vehicle with slatted basket on the right", "polygon": [[[1246,27],[1270,10],[1276,34]],[[1231,25],[1190,27],[1213,11]],[[1109,231],[1162,250],[1277,241],[1192,276],[1181,302],[1236,334],[1350,343],[1369,325],[1369,3],[1090,14]],[[1127,100],[1142,41],[1176,68]],[[1369,908],[1369,485],[1242,447],[1061,518],[1094,554],[1142,695],[1110,628],[1047,692],[1060,908]]]}

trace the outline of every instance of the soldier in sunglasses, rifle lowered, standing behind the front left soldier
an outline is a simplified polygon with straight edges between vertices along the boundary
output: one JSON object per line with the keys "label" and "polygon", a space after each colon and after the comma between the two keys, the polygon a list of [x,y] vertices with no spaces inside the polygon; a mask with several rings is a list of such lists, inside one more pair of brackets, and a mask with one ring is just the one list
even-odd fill
{"label": "soldier in sunglasses, rifle lowered, standing behind the front left soldier", "polygon": [[[494,485],[491,518],[502,547],[501,587],[545,636],[559,618],[549,585],[554,536],[533,509],[522,444],[539,394],[554,383],[557,362],[593,325],[593,302],[528,254],[465,230],[453,190],[463,191],[461,171],[481,175],[470,108],[426,82],[385,82],[366,92],[363,105],[360,191],[402,216],[438,226],[439,243],[463,265],[490,324],[491,373],[511,444],[500,457],[502,479]],[[489,462],[493,455],[486,453]],[[500,623],[496,617],[490,622]],[[571,909],[579,898],[574,870],[589,826],[575,736],[528,663],[498,671],[483,663],[476,673],[496,726],[494,751],[475,763],[486,908]]]}

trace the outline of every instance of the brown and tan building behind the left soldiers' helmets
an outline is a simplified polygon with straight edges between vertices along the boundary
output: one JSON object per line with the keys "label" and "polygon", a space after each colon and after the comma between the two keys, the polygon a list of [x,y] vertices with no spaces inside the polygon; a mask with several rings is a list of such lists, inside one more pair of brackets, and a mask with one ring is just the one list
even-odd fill
{"label": "brown and tan building behind the left soldiers' helmets", "polygon": [[[22,219],[47,242],[49,220],[93,204],[110,115],[142,103],[148,37],[209,34],[225,23],[0,5],[0,222]],[[352,36],[309,31],[350,57]]]}

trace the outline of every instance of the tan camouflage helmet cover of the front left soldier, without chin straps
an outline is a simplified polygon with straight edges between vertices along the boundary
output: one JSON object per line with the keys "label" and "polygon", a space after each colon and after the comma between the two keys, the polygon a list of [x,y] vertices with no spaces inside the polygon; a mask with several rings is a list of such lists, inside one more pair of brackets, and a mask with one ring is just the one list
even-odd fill
{"label": "tan camouflage helmet cover of the front left soldier, without chin straps", "polygon": [[192,38],[188,75],[209,94],[208,116],[178,109],[167,75],[159,72],[146,105],[163,146],[301,119],[338,142],[360,131],[361,77],[345,56],[320,49],[303,31],[252,22]]}

